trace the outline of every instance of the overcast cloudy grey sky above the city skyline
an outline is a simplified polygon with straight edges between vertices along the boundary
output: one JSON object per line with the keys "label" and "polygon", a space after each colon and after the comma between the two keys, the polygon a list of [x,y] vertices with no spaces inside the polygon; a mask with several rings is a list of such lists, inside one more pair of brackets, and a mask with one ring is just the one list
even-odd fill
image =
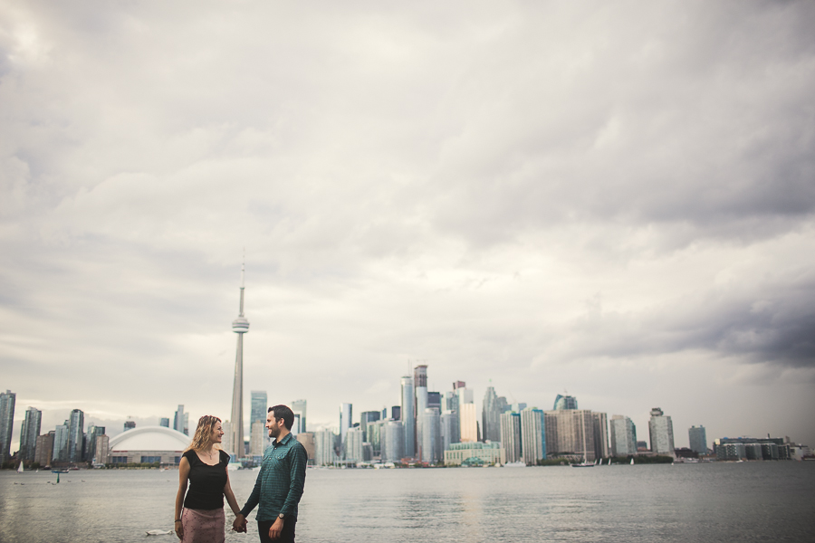
{"label": "overcast cloudy grey sky above the city skyline", "polygon": [[815,445],[815,4],[0,5],[0,389],[45,433],[431,390]]}

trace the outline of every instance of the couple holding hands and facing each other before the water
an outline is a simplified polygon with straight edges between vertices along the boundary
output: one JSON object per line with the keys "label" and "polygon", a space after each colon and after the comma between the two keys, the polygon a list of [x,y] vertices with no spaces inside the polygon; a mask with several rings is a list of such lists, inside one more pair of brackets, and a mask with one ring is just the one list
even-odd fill
{"label": "couple holding hands and facing each other before the water", "polygon": [[221,419],[212,415],[198,419],[192,443],[178,465],[175,531],[182,543],[225,541],[224,497],[235,513],[233,530],[245,532],[246,515],[259,506],[256,519],[261,542],[294,541],[308,455],[291,433],[293,423],[289,407],[269,408],[266,428],[274,441],[264,452],[252,494],[244,509],[238,509],[226,470],[229,454],[216,446],[224,435]]}

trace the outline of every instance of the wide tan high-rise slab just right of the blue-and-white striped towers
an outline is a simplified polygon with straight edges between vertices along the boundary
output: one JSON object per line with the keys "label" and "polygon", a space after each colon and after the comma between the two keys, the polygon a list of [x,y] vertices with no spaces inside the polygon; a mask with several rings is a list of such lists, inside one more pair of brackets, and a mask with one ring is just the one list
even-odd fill
{"label": "wide tan high-rise slab just right of the blue-and-white striped towers", "polygon": [[543,416],[549,458],[575,458],[584,462],[598,458],[594,426],[599,417],[590,410],[558,409],[544,411]]}

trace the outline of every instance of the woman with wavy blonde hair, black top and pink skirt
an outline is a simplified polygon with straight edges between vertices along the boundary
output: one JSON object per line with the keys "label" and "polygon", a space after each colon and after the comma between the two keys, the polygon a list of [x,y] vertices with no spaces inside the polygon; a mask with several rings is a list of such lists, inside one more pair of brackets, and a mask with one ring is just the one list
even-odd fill
{"label": "woman with wavy blonde hair, black top and pink skirt", "polygon": [[224,542],[224,496],[235,515],[241,512],[226,471],[229,455],[216,446],[223,435],[221,419],[209,414],[202,416],[178,465],[175,530],[184,543]]}

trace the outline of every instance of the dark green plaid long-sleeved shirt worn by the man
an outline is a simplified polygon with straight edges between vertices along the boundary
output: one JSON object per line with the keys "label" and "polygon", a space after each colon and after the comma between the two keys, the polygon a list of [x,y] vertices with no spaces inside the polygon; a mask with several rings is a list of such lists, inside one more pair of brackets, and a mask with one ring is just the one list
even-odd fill
{"label": "dark green plaid long-sleeved shirt worn by the man", "polygon": [[274,520],[280,513],[296,519],[308,459],[305,447],[291,433],[279,443],[274,440],[264,452],[254,490],[241,514],[246,517],[260,503],[255,517],[258,520]]}

